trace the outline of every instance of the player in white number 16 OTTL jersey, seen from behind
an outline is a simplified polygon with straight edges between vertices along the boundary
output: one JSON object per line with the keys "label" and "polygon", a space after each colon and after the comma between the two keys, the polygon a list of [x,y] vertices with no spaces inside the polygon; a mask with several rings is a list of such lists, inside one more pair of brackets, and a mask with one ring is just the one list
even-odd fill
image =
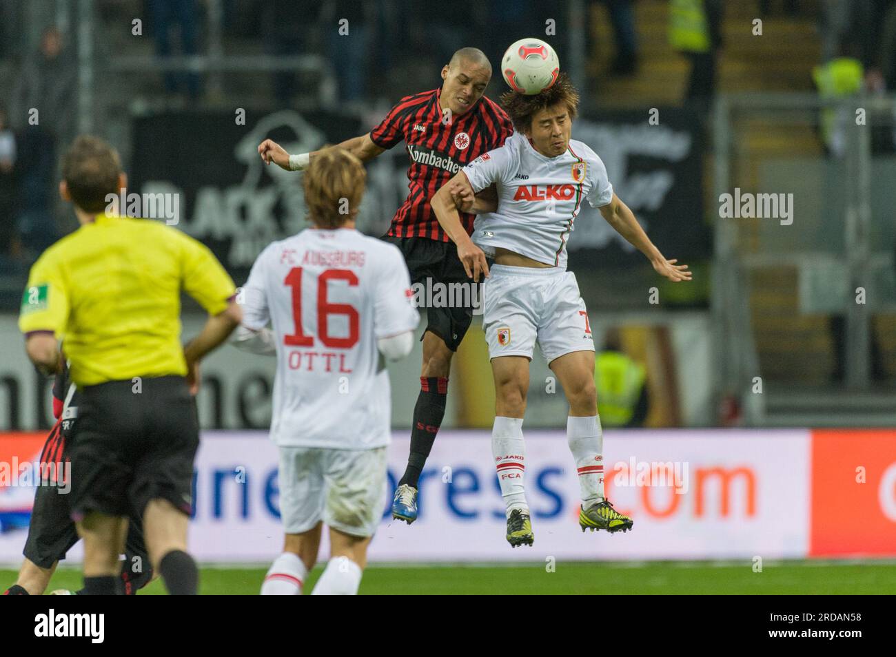
{"label": "player in white number 16 OTTL jersey, seen from behind", "polygon": [[409,354],[419,315],[401,252],[355,229],[365,176],[344,149],[314,158],[304,180],[314,227],[271,243],[238,294],[237,339],[277,357],[271,439],[286,539],[262,594],[302,593],[323,524],[331,559],[313,594],[358,593],[383,514],[392,407],[383,357]]}

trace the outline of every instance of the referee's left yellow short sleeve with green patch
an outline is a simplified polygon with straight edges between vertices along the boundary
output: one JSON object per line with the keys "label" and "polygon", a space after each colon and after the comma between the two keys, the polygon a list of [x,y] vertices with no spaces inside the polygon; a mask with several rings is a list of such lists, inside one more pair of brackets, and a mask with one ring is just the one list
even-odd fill
{"label": "referee's left yellow short sleeve with green patch", "polygon": [[61,339],[68,324],[69,292],[53,252],[45,252],[31,268],[22,294],[19,329],[26,335],[53,331]]}

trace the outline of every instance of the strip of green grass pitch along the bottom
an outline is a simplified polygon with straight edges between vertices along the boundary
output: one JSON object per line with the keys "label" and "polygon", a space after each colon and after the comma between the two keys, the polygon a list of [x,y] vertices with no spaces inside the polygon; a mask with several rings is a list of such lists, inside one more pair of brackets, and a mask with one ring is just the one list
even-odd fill
{"label": "strip of green grass pitch along the bottom", "polygon": [[[323,567],[315,567],[306,583],[310,593]],[[254,595],[266,567],[203,567],[200,593]],[[15,581],[15,571],[0,570],[2,590]],[[81,572],[60,568],[49,591],[78,589]],[[141,594],[163,594],[157,579]],[[582,563],[558,562],[555,572],[544,563],[371,565],[361,582],[362,594],[557,594],[557,593],[722,593],[722,594],[896,594],[894,562],[787,561],[766,563],[754,572],[751,561]]]}

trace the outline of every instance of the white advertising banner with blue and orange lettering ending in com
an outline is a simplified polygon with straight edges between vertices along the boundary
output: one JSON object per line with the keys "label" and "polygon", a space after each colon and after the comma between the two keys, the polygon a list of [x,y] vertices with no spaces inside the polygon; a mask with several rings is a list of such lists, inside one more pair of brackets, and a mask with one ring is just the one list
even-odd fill
{"label": "white advertising banner with blue and orange lettering ending in com", "polygon": [[[394,438],[390,499],[409,446],[405,432]],[[535,544],[511,549],[488,433],[443,431],[420,482],[418,521],[392,521],[383,499],[370,560],[806,557],[809,431],[606,431],[604,447],[607,495],[633,517],[631,532],[582,533],[564,431],[528,431],[525,484]],[[266,433],[205,432],[195,492],[190,550],[197,559],[264,563],[280,553],[277,453]],[[24,531],[4,534],[0,562],[17,561],[24,540]]]}

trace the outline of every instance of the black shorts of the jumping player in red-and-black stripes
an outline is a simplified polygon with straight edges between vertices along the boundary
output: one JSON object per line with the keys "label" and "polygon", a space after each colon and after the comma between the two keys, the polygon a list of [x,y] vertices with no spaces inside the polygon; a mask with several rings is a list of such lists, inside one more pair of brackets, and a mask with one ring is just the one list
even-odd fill
{"label": "black shorts of the jumping player in red-and-black stripes", "polygon": [[[473,294],[472,286],[476,284],[463,269],[463,263],[457,257],[457,246],[453,242],[440,242],[426,237],[386,235],[383,240],[395,244],[404,255],[404,261],[410,271],[411,284],[423,286],[418,296],[421,302],[426,301],[424,294],[426,290],[434,289],[431,286],[435,284],[444,286],[445,292],[442,297],[444,303],[439,303],[437,307],[429,303],[422,304],[426,305],[426,330],[441,337],[449,349],[457,351],[473,320],[471,302],[481,298],[479,288],[476,294]],[[463,286],[448,287],[452,283],[455,285],[461,283]],[[453,289],[466,289],[466,291],[458,294],[453,293]],[[433,294],[433,299],[437,298]]]}

